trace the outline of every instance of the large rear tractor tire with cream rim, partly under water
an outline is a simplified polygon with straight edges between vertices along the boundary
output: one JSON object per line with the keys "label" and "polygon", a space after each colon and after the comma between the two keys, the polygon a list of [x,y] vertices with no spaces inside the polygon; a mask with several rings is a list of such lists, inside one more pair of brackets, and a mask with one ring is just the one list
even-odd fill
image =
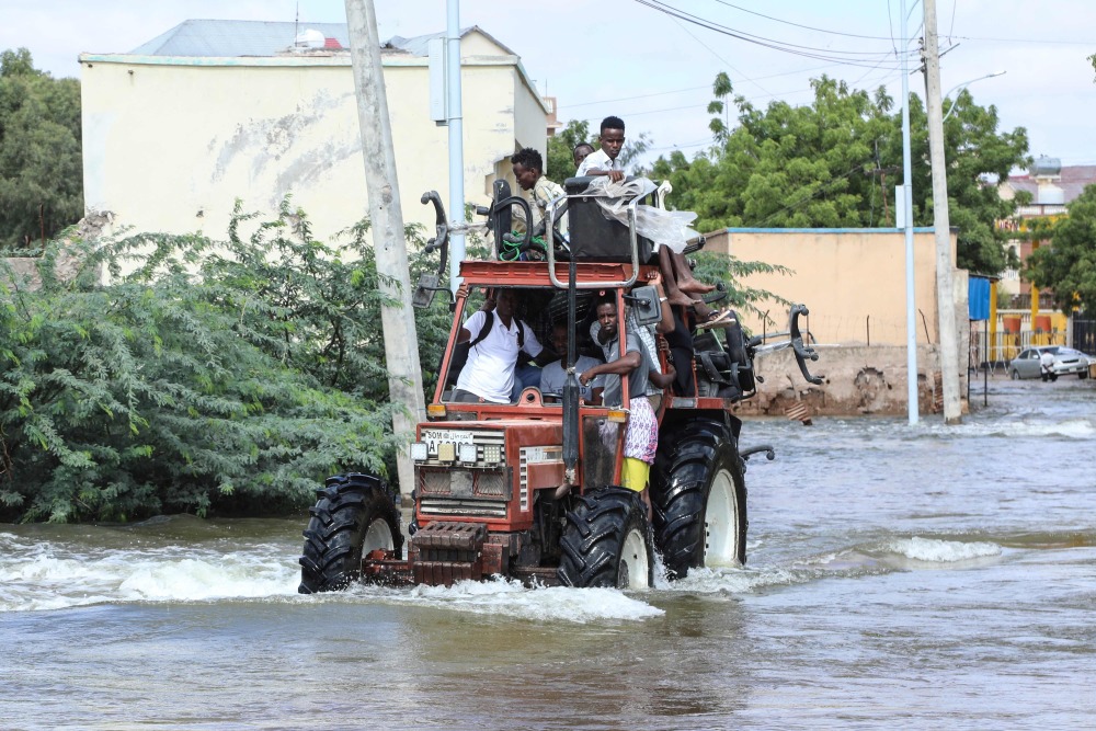
{"label": "large rear tractor tire with cream rim, partly under water", "polygon": [[654,545],[671,580],[746,562],[746,489],[726,424],[696,419],[660,439],[651,478]]}

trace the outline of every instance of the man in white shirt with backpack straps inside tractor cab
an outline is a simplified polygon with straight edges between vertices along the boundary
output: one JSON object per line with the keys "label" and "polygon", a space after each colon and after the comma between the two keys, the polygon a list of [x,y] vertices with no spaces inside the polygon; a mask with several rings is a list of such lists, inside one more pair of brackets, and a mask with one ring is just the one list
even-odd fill
{"label": "man in white shirt with backpack straps inside tractor cab", "polygon": [[[555,354],[537,341],[533,328],[514,317],[516,307],[514,290],[500,289],[494,299],[488,297],[483,307],[465,321],[457,342],[471,341],[472,344],[452,400],[511,403],[518,353],[525,351],[537,365],[556,359]],[[489,332],[482,332],[484,324],[490,324]]]}

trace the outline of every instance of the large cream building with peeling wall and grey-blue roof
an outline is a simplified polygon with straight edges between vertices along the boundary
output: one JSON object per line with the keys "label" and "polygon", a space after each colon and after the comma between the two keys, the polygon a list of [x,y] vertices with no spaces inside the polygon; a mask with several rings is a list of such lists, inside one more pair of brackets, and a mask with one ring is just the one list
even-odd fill
{"label": "large cream building with peeling wall and grey-blue roof", "polygon": [[[296,34],[296,35],[295,35]],[[442,34],[438,34],[441,36]],[[448,130],[430,115],[427,41],[381,49],[406,221],[448,202]],[[461,34],[465,196],[484,203],[515,149],[546,149],[549,110],[518,56]],[[82,54],[84,199],[115,226],[226,237],[237,198],[282,198],[327,240],[368,210],[344,24],[187,21],[129,54]]]}

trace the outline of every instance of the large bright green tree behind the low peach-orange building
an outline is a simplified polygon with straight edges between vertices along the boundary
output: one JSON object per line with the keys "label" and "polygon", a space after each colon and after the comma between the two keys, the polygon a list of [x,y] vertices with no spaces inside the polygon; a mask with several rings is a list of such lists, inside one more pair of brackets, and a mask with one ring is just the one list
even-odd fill
{"label": "large bright green tree behind the low peach-orange building", "polygon": [[[677,208],[698,215],[698,230],[727,226],[893,226],[888,199],[901,182],[901,115],[883,89],[852,90],[822,77],[811,82],[814,100],[791,106],[781,101],[760,110],[733,96],[738,126],[729,126],[733,87],[717,76],[710,129],[715,145],[694,159],[681,152],[659,158],[651,174],[674,185]],[[1026,161],[1023,128],[998,134],[992,106],[956,100],[945,138],[952,225],[959,227],[959,265],[996,273],[1011,262],[994,221],[1007,218],[1015,202],[1000,198],[990,181],[1005,180]],[[914,221],[933,222],[932,172],[924,107],[911,95]]]}

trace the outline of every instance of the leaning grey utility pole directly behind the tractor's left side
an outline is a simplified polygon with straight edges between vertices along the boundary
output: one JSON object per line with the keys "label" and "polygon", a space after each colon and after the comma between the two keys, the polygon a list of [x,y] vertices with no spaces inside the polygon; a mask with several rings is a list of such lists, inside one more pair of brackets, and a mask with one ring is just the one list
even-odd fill
{"label": "leaning grey utility pole directly behind the tractor's left side", "polygon": [[[373,0],[346,0],[346,25],[380,292],[400,302],[396,307],[380,307],[389,398],[392,403],[403,407],[403,410],[392,414],[392,431],[397,437],[410,436],[414,434],[415,424],[425,421],[426,404],[422,395],[422,369],[419,367],[419,336],[411,310],[411,275],[403,239],[396,150],[392,147],[388,96],[380,65],[377,11]],[[407,449],[397,450],[396,465],[400,493],[404,500],[410,500],[414,470]]]}

